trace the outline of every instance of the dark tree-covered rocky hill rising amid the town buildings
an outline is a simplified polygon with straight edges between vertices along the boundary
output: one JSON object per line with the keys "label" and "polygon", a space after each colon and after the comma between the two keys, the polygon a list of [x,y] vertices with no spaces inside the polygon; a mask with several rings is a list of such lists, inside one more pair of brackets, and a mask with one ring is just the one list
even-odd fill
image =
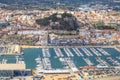
{"label": "dark tree-covered rocky hill rising amid the town buildings", "polygon": [[37,19],[36,23],[41,26],[48,26],[53,30],[77,30],[79,24],[76,18],[69,13],[53,14],[43,19]]}

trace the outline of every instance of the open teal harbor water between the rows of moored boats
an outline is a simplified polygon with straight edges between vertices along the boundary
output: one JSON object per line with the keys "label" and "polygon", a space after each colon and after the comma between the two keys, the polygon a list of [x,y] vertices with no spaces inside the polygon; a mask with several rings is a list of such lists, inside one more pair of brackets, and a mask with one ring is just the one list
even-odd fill
{"label": "open teal harbor water between the rows of moored boats", "polygon": [[[84,55],[82,56],[77,56],[77,54],[75,53],[75,51],[72,48],[68,48],[70,50],[70,52],[72,52],[72,54],[74,55],[73,57],[70,57],[75,65],[77,67],[80,66],[87,66],[88,64],[85,62],[84,58],[89,59],[93,65],[98,65],[99,62],[96,61],[96,58],[98,58],[98,56],[96,56],[89,48],[87,48],[87,50],[92,53],[93,56],[87,56],[86,53],[81,49],[78,48],[78,50]],[[96,48],[94,48],[96,49]],[[64,55],[64,58],[68,57],[66,52],[64,51],[63,48],[60,49],[62,54]],[[97,50],[97,49],[96,49]],[[113,64],[107,59],[109,58],[113,58],[114,60],[118,61],[120,63],[120,59],[117,57],[120,57],[120,52],[115,50],[114,48],[103,48],[103,50],[105,50],[106,52],[108,52],[110,55],[109,56],[105,56],[103,55],[100,51],[98,51],[102,56],[99,56],[99,58],[101,58],[102,60],[106,61],[109,65],[113,66]],[[53,48],[49,48],[49,53],[51,55],[51,57],[49,58],[52,64],[52,68],[56,69],[56,68],[63,68],[62,66],[62,62],[59,60],[59,58],[57,57],[55,51]],[[36,61],[35,58],[37,58],[38,56],[40,56],[41,58],[43,58],[43,53],[42,53],[42,49],[24,49],[24,61],[26,63],[26,67],[28,69],[34,69],[36,68]],[[15,63],[15,56],[1,56],[0,60],[2,60],[3,58],[8,59],[8,62],[14,62]]]}

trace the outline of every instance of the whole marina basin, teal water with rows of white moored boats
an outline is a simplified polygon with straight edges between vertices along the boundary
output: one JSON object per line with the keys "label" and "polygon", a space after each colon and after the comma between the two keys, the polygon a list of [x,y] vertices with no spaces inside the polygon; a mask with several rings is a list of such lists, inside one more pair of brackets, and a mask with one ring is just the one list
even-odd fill
{"label": "whole marina basin, teal water with rows of white moored boats", "polygon": [[[24,59],[27,69],[77,71],[80,66],[120,66],[120,52],[115,48],[25,48],[23,53],[22,58],[19,58],[18,61]],[[16,63],[16,60],[16,55],[0,56],[0,63]]]}

